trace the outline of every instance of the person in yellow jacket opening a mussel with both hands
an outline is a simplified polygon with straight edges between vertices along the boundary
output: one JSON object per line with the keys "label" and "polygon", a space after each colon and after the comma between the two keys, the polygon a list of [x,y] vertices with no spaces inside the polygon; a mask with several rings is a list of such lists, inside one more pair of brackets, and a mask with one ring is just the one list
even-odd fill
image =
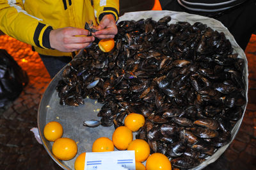
{"label": "person in yellow jacket opening a mussel with both hands", "polygon": [[[95,37],[114,38],[119,0],[0,0],[0,30],[38,52],[54,77]],[[86,22],[99,30],[89,36]]]}

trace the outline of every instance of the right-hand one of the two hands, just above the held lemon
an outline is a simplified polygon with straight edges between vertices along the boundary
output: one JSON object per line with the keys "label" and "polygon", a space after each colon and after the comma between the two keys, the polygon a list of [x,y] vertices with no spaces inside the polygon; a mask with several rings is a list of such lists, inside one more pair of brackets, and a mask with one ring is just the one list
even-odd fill
{"label": "right-hand one of the two hands, just above the held lemon", "polygon": [[94,33],[94,36],[96,36],[97,38],[114,38],[117,34],[117,27],[114,15],[104,15],[102,20],[100,20],[99,26],[97,26],[96,29],[99,30]]}

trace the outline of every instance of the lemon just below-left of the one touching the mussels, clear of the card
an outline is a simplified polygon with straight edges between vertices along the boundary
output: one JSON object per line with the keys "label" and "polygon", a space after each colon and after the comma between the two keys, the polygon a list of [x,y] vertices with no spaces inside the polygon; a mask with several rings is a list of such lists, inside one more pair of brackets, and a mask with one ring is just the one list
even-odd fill
{"label": "lemon just below-left of the one touching the mussels, clear of the card", "polygon": [[132,139],[132,131],[124,126],[116,128],[112,135],[112,141],[118,150],[126,150]]}

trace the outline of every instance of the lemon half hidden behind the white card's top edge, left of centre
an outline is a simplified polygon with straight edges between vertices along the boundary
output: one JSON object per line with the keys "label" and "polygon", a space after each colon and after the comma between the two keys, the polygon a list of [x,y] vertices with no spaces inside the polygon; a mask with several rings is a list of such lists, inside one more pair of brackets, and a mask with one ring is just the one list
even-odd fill
{"label": "lemon half hidden behind the white card's top edge, left of centre", "polygon": [[92,144],[93,152],[113,151],[114,149],[114,144],[108,137],[99,137]]}

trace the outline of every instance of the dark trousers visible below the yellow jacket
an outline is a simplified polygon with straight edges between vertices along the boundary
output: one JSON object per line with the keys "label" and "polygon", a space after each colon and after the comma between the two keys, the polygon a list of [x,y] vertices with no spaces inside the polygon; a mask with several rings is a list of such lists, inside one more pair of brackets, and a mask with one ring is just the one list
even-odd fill
{"label": "dark trousers visible below the yellow jacket", "polygon": [[39,54],[39,56],[42,59],[45,68],[47,69],[51,78],[53,78],[58,72],[60,72],[61,68],[63,68],[72,60],[72,58],[68,56],[54,57],[44,56],[42,54]]}

